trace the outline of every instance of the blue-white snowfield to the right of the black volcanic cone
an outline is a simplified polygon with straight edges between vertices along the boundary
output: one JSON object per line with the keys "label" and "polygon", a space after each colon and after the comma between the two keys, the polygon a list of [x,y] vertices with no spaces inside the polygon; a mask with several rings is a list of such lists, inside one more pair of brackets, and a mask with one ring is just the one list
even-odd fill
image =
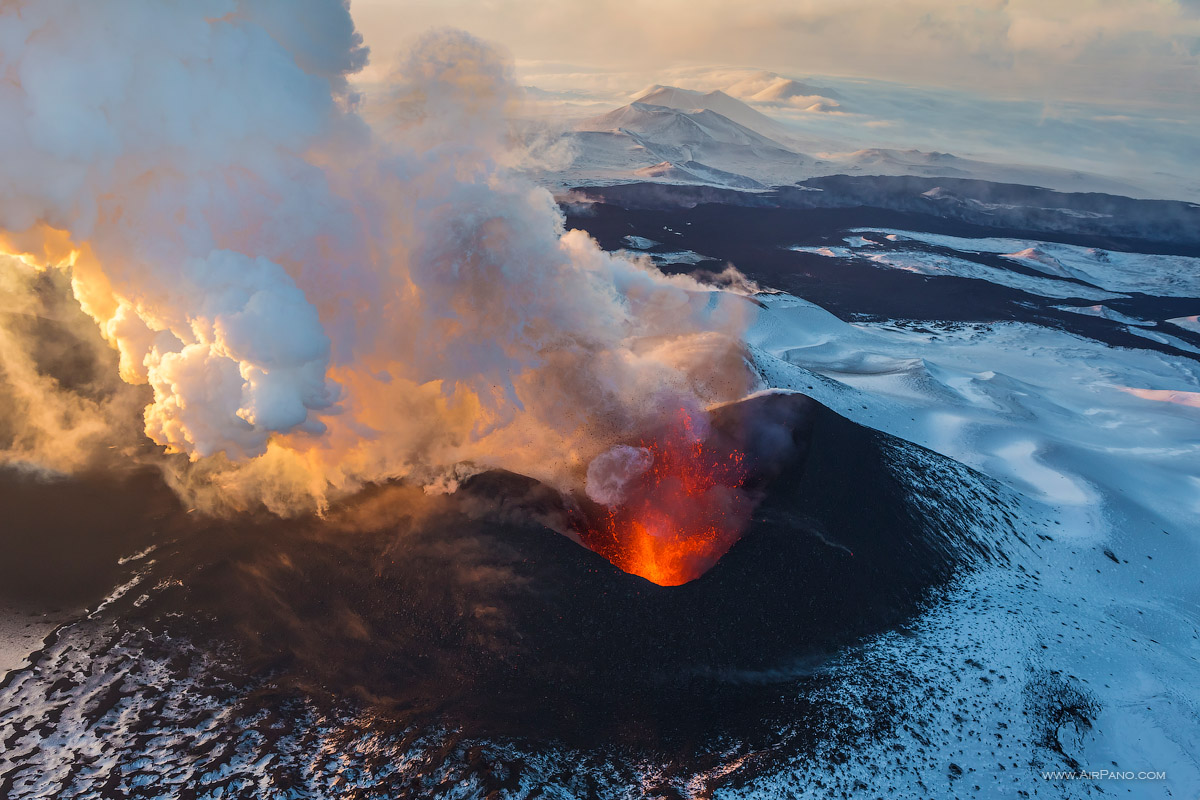
{"label": "blue-white snowfield to the right of the black volcanic cone", "polygon": [[[1031,324],[850,324],[797,297],[760,300],[749,343],[764,384],[970,464],[1042,509],[1021,522],[1037,554],[974,575],[912,631],[846,656],[851,681],[887,663],[937,693],[901,702],[916,717],[901,758],[894,742],[869,747],[839,770],[841,784],[916,796],[917,776],[948,772],[956,796],[1092,786],[1196,796],[1200,363]],[[1038,681],[1093,704],[1090,726],[1052,734],[1079,770],[1165,780],[1085,788],[1030,770]],[[796,771],[756,788],[812,787]]]}

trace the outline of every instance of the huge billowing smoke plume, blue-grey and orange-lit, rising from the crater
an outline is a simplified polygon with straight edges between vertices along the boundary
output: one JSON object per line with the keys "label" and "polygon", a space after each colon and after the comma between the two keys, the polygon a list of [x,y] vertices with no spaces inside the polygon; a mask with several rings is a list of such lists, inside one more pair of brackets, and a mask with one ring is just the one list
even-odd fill
{"label": "huge billowing smoke plume, blue-grey and orange-lit, rising from the crater", "polygon": [[427,35],[386,137],[347,83],[365,60],[341,0],[0,6],[0,245],[70,271],[181,491],[286,512],[463,464],[564,486],[745,391],[750,302],[604,253],[505,173],[503,54]]}

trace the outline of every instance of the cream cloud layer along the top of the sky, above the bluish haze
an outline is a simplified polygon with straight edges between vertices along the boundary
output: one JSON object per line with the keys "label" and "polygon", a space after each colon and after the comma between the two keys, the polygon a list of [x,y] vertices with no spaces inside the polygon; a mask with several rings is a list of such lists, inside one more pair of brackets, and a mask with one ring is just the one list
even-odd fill
{"label": "cream cloud layer along the top of the sky, above the bluish haze", "polygon": [[377,65],[455,25],[516,58],[743,64],[991,94],[1195,107],[1196,0],[354,0]]}

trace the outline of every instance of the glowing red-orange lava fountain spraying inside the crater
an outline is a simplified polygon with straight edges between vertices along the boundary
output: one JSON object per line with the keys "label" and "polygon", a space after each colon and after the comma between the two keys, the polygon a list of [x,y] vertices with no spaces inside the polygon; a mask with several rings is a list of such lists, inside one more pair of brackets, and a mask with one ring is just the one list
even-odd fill
{"label": "glowing red-orange lava fountain spraying inside the crater", "polygon": [[583,543],[664,587],[707,572],[742,536],[752,507],[740,488],[745,457],[709,439],[680,409],[658,440],[641,443],[652,464],[620,505],[581,533]]}

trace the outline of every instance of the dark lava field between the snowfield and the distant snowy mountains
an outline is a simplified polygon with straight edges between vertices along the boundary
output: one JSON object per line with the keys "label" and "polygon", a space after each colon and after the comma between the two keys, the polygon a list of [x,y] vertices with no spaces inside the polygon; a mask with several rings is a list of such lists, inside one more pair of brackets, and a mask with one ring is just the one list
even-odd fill
{"label": "dark lava field between the snowfield and the distant snowy mountains", "polygon": [[[850,179],[847,181],[853,185]],[[996,186],[1006,188],[1001,185]],[[880,269],[862,258],[830,258],[791,249],[792,246],[800,243],[842,246],[844,237],[850,235],[852,229],[895,228],[965,239],[1001,236],[1104,247],[1112,251],[1200,255],[1200,242],[1194,241],[1195,236],[1190,230],[1184,234],[1171,228],[1162,234],[1163,236],[1176,236],[1170,241],[1153,237],[1158,234],[1152,227],[1142,231],[1151,236],[1148,239],[1117,239],[1098,233],[1084,235],[1055,231],[1054,229],[1010,228],[1004,224],[1008,218],[1004,215],[989,217],[986,225],[967,223],[954,215],[937,216],[940,206],[936,204],[923,206],[923,210],[919,211],[896,210],[890,206],[840,207],[838,203],[841,200],[835,196],[814,200],[805,206],[776,203],[770,199],[773,197],[770,194],[746,194],[744,198],[733,197],[739,194],[737,192],[718,193],[713,197],[702,193],[689,194],[696,188],[658,185],[590,188],[587,190],[588,193],[602,201],[565,206],[566,223],[569,227],[587,230],[606,249],[629,247],[628,237],[630,236],[661,242],[644,252],[654,257],[660,263],[661,269],[667,272],[694,273],[703,278],[702,273],[704,272],[720,272],[726,264],[733,264],[746,277],[762,287],[804,297],[841,319],[852,321],[1019,321],[1067,331],[1114,347],[1151,349],[1193,359],[1196,354],[1194,350],[1187,349],[1188,344],[1200,345],[1200,337],[1162,321],[1159,321],[1157,330],[1169,335],[1171,339],[1158,342],[1130,332],[1128,325],[1120,321],[1064,311],[1064,305],[1091,306],[1096,302],[1082,297],[1076,300],[1067,297],[1072,287],[1085,295],[1087,291],[1096,290],[1094,287],[1075,281],[1060,281],[1061,288],[1064,289],[1063,295],[1048,297],[982,278],[930,277],[906,270]],[[650,193],[655,201],[646,200],[641,194],[643,191]],[[716,192],[716,190],[712,191]],[[1045,192],[1045,190],[1036,192]],[[820,192],[802,192],[800,194],[824,198],[824,194]],[[856,197],[857,194],[851,194],[850,199],[842,199],[852,205],[851,201]],[[1063,198],[1072,197],[1075,196],[1063,196]],[[1080,197],[1092,198],[1092,196]],[[1126,200],[1126,198],[1109,198],[1109,196],[1098,197],[1100,199],[1108,198],[1114,203]],[[1042,200],[1069,201],[1063,198],[1042,198]],[[692,200],[696,201],[692,203]],[[1156,201],[1128,200],[1128,203],[1136,206],[1138,211],[1134,218],[1153,218]],[[883,205],[886,206],[886,204]],[[900,205],[906,207],[904,204]],[[1170,218],[1200,213],[1195,209],[1183,207],[1187,204],[1169,203],[1166,205],[1171,209]],[[1090,206],[1085,204],[1085,207]],[[1068,207],[1067,211],[1073,211],[1073,209]],[[1084,225],[1084,229],[1094,222],[1092,217],[1086,215],[1072,217],[1066,213],[1063,218],[1075,219],[1080,225]],[[1196,221],[1200,223],[1200,217],[1196,217]],[[972,260],[990,269],[1045,277],[995,254],[965,253],[911,241],[889,242],[880,235],[874,235],[872,239],[875,243],[866,251],[869,253],[917,249]],[[672,261],[672,258],[682,249],[698,253],[707,260],[697,263],[692,255]],[[1200,311],[1200,299],[1138,293],[1115,296],[1105,300],[1104,305],[1122,314],[1152,321],[1188,317]],[[1182,341],[1183,348],[1169,343],[1172,339]]]}

